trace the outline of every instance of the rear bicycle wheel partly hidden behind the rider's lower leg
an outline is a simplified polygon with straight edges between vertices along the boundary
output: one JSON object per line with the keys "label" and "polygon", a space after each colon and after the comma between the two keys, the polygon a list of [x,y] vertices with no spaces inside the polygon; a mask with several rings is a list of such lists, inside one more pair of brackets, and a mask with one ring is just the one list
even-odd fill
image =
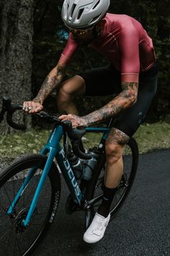
{"label": "rear bicycle wheel partly hidden behind the rider's lower leg", "polygon": [[[122,206],[123,202],[125,199],[128,197],[128,194],[130,192],[130,189],[133,186],[133,182],[135,179],[135,174],[137,172],[138,168],[138,144],[135,141],[135,139],[131,138],[126,145],[126,148],[130,151],[130,155],[125,154],[125,157],[123,158],[123,163],[124,163],[124,175],[122,176],[122,180],[120,182],[120,186],[117,189],[117,192],[115,194],[115,197],[113,199],[111,208],[110,208],[110,214],[111,214],[111,219],[115,216],[117,211],[120,209]],[[130,161],[131,160],[131,161]],[[91,180],[89,181],[88,187],[86,189],[86,199],[87,200],[92,200],[96,198],[98,195],[101,195],[101,200],[98,200],[97,203],[94,205],[91,205],[91,210],[92,214],[91,217],[94,216],[94,214],[97,212],[97,208],[99,207],[100,203],[102,202],[102,184],[103,184],[103,176],[104,176],[104,163],[105,163],[105,156],[104,153],[102,157],[99,158],[99,163],[97,165],[97,168],[94,170],[94,173],[92,175]],[[127,176],[125,168],[126,168],[126,161],[130,161],[130,175]],[[125,179],[125,180],[123,180]],[[122,192],[122,195],[119,197],[120,199],[117,200],[117,202],[114,202],[115,198],[117,197],[117,193],[120,192],[120,189],[124,189]],[[97,191],[99,190],[99,191]],[[88,213],[86,213],[88,214]],[[90,217],[90,218],[91,218]],[[86,221],[89,221],[89,216],[86,216]],[[91,218],[92,219],[92,218]],[[86,228],[89,226],[89,223],[86,223]]]}

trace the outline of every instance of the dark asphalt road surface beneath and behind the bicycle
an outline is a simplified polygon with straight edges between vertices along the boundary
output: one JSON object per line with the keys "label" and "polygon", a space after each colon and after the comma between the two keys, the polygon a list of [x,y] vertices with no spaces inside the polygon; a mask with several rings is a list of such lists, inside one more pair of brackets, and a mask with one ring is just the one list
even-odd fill
{"label": "dark asphalt road surface beneath and behind the bicycle", "polygon": [[63,190],[55,225],[35,256],[170,255],[170,150],[140,155],[133,189],[101,242],[83,241],[84,213],[67,216]]}

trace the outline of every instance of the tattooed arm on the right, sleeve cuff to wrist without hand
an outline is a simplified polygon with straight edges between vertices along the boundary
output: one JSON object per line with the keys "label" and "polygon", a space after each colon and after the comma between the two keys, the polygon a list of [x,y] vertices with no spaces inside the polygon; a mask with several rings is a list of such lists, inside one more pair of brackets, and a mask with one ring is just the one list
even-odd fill
{"label": "tattooed arm on the right, sleeve cuff to wrist without hand", "polygon": [[84,116],[87,126],[104,121],[109,117],[119,114],[124,109],[133,106],[137,101],[138,82],[122,82],[122,89],[122,92],[112,101],[107,103],[107,105]]}

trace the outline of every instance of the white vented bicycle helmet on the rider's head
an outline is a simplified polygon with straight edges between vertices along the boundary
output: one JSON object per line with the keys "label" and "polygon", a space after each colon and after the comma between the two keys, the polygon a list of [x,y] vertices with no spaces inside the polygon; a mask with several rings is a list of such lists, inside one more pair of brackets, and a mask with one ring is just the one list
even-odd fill
{"label": "white vented bicycle helmet on the rider's head", "polygon": [[61,17],[67,27],[94,27],[109,8],[109,0],[65,0]]}

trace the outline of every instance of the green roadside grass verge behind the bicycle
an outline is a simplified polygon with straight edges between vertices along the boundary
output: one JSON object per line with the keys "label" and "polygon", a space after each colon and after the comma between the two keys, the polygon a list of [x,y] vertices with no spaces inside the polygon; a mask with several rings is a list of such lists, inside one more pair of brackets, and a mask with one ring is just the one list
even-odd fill
{"label": "green roadside grass verge behind the bicycle", "polygon": [[[12,135],[0,135],[0,157],[15,158],[27,153],[39,153],[46,144],[50,130],[32,129],[29,132],[16,132]],[[89,142],[84,142],[85,148],[91,148],[99,142],[100,134],[87,133]],[[139,152],[170,148],[170,124],[158,122],[143,124],[135,133]]]}

